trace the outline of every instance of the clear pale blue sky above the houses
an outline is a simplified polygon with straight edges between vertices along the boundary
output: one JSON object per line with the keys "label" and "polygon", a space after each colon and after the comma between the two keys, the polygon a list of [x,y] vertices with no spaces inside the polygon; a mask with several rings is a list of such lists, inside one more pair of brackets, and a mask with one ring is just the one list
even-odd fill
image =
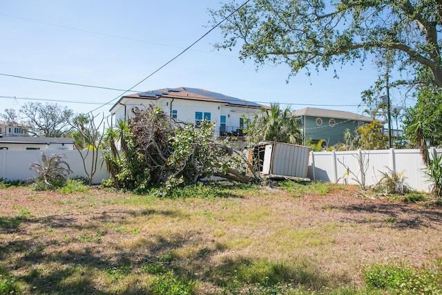
{"label": "clear pale blue sky above the houses", "polygon": [[10,75],[121,90],[151,76],[133,90],[184,86],[293,110],[363,112],[361,92],[378,77],[370,62],[335,65],[339,79],[330,68],[287,83],[288,66],[256,70],[235,50],[214,50],[218,28],[171,61],[211,29],[208,9],[219,7],[218,0],[1,0],[0,113],[41,102],[107,116],[124,94]]}

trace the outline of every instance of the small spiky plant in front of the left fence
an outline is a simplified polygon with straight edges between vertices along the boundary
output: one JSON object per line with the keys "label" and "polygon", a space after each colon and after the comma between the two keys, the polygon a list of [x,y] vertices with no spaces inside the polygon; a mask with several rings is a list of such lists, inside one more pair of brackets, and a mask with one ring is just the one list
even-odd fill
{"label": "small spiky plant in front of the left fence", "polygon": [[72,173],[69,164],[63,158],[66,158],[66,155],[61,153],[52,154],[50,157],[41,153],[41,163],[34,162],[30,164],[29,169],[37,172],[37,180],[49,188],[61,187],[66,176]]}

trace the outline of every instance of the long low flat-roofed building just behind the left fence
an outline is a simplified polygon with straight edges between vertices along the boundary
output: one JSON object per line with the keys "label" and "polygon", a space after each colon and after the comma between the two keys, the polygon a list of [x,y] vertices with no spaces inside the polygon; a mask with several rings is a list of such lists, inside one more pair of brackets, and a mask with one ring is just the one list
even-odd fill
{"label": "long low flat-roofed building just behind the left fence", "polygon": [[0,149],[59,149],[73,150],[73,138],[59,137],[0,137]]}

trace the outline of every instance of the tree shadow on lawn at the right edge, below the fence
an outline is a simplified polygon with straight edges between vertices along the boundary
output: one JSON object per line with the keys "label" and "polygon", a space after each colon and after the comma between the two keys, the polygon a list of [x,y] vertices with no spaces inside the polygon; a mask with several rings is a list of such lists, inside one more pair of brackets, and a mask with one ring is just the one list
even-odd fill
{"label": "tree shadow on lawn at the right edge, below the fence", "polygon": [[[389,223],[397,229],[421,229],[434,225],[442,226],[442,212],[440,209],[419,209],[411,204],[354,204],[331,206],[332,209],[351,211],[355,222],[382,222]],[[369,213],[373,219],[361,218],[358,213]],[[376,217],[376,218],[375,218]]]}

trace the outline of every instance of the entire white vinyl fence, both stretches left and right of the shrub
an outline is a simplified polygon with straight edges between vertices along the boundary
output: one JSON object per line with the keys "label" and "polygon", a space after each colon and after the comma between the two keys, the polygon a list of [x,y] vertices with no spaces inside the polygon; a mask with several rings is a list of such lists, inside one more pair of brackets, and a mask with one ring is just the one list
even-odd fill
{"label": "entire white vinyl fence, both stretches left and right of the shrub", "polygon": [[[81,151],[86,155],[87,151]],[[35,171],[29,169],[33,162],[41,162],[41,153],[50,156],[53,153],[66,155],[64,159],[68,162],[73,171],[70,177],[87,177],[83,168],[83,161],[79,151],[59,150],[0,150],[0,179],[5,180],[27,180],[36,176]],[[442,149],[430,149],[430,154],[441,154]],[[93,183],[99,184],[102,180],[108,179],[106,165],[102,164],[102,153],[99,153],[97,172],[94,175]],[[403,172],[405,182],[409,187],[417,191],[429,191],[430,182],[423,173],[425,165],[419,149],[389,149],[381,151],[337,151],[337,152],[311,152],[307,177],[311,180],[321,180],[334,183],[357,184],[354,178],[361,180],[361,169],[359,159],[367,165],[365,167],[365,184],[367,186],[376,184],[381,179],[381,172],[392,169],[398,173]],[[90,170],[91,155],[86,158],[86,167]],[[349,171],[354,173],[347,173]]]}

